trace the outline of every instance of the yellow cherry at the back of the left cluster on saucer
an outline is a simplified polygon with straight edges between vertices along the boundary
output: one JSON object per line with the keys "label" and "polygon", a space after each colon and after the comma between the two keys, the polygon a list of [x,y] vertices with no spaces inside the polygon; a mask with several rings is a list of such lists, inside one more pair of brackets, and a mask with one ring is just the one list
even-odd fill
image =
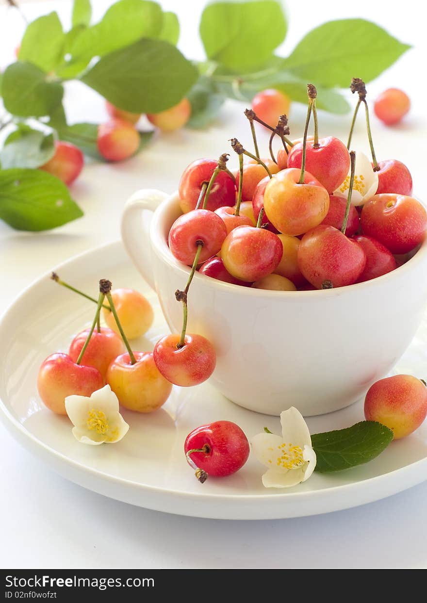
{"label": "yellow cherry at the back of the left cluster on saucer", "polygon": [[[115,289],[111,295],[125,336],[128,339],[137,339],[144,335],[154,320],[150,301],[134,289]],[[106,305],[109,306],[107,300]],[[110,329],[119,333],[113,313],[109,309],[103,308],[103,316]]]}

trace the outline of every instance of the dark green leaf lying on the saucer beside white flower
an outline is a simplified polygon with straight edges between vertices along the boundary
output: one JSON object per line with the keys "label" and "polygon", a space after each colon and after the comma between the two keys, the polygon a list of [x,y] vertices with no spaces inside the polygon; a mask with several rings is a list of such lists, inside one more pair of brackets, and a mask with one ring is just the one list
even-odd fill
{"label": "dark green leaf lying on the saucer beside white flower", "polygon": [[393,432],[376,421],[311,436],[317,456],[315,471],[329,473],[368,463],[393,440]]}

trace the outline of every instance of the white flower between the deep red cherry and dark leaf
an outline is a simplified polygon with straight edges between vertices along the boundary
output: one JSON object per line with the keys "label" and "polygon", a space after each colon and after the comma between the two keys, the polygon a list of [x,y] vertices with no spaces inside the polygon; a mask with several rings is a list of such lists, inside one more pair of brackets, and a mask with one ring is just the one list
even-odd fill
{"label": "white flower between the deep red cherry and dark leaf", "polygon": [[262,433],[251,441],[260,463],[268,467],[262,476],[266,488],[289,488],[305,482],[316,466],[316,453],[302,414],[291,406],[280,413],[282,437]]}

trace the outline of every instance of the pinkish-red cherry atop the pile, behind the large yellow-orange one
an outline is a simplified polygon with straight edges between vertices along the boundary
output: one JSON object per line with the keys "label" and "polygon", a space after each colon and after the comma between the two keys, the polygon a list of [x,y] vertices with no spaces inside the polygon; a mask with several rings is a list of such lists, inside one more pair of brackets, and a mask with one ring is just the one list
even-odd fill
{"label": "pinkish-red cherry atop the pile, behind the large yellow-orange one", "polygon": [[[350,154],[346,145],[335,136],[319,139],[319,147],[308,142],[305,168],[331,193],[340,186],[350,169]],[[289,151],[288,168],[301,168],[303,143],[299,142]]]}

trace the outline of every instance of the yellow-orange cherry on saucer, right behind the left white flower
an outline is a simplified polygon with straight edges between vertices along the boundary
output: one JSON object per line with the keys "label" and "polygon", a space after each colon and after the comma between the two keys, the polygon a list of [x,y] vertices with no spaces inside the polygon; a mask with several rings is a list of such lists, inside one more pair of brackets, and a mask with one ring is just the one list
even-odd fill
{"label": "yellow-orange cherry on saucer, right behind the left white flower", "polygon": [[113,360],[107,370],[107,384],[125,408],[153,412],[166,402],[172,385],[159,373],[153,352],[133,352],[133,355],[134,364],[128,353]]}

